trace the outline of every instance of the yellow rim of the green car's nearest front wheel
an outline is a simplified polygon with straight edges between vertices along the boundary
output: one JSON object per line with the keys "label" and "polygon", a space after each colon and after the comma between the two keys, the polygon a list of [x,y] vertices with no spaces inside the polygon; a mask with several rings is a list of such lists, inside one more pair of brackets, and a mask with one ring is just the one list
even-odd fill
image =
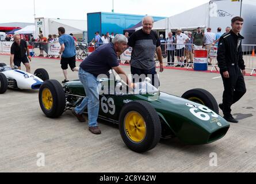
{"label": "yellow rim of the green car's nearest front wheel", "polygon": [[140,113],[132,111],[124,118],[125,132],[134,143],[141,143],[147,133],[146,122]]}

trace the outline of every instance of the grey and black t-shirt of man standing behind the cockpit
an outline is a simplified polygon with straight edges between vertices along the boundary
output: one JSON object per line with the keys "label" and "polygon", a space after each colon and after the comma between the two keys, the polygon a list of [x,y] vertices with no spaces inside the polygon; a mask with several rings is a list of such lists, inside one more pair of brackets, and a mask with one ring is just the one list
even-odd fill
{"label": "grey and black t-shirt of man standing behind the cockpit", "polygon": [[137,30],[129,37],[128,45],[132,47],[131,66],[142,70],[150,70],[155,67],[155,49],[161,45],[156,32],[144,33]]}

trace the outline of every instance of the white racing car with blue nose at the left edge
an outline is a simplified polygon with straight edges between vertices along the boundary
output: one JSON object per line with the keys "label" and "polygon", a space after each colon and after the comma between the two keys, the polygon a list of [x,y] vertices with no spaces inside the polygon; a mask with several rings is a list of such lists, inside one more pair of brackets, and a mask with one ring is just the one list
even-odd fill
{"label": "white racing car with blue nose at the left edge", "polygon": [[43,68],[37,69],[34,74],[16,68],[13,69],[5,63],[0,63],[0,94],[5,93],[8,87],[37,90],[44,81],[49,79],[48,72]]}

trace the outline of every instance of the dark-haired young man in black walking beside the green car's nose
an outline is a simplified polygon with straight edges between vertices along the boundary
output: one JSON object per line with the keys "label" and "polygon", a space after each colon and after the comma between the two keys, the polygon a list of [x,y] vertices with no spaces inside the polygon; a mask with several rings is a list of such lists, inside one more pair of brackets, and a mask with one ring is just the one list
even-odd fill
{"label": "dark-haired young man in black walking beside the green car's nose", "polygon": [[246,93],[243,78],[246,71],[242,52],[244,37],[239,33],[243,26],[243,18],[232,18],[231,26],[231,31],[220,37],[217,51],[217,61],[224,84],[223,104],[220,104],[219,107],[223,110],[224,118],[227,121],[237,123],[238,120],[231,115],[231,105],[239,101]]}

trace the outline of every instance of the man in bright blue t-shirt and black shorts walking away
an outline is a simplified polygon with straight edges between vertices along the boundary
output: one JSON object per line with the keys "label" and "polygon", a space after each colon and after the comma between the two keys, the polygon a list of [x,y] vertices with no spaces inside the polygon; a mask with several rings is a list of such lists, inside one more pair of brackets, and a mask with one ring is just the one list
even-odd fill
{"label": "man in bright blue t-shirt and black shorts walking away", "polygon": [[60,64],[62,66],[64,81],[62,83],[68,82],[67,79],[67,68],[70,66],[72,71],[79,71],[79,68],[75,66],[75,40],[72,36],[65,34],[65,29],[63,27],[58,28],[59,32],[59,43],[60,43],[60,52],[62,59]]}

